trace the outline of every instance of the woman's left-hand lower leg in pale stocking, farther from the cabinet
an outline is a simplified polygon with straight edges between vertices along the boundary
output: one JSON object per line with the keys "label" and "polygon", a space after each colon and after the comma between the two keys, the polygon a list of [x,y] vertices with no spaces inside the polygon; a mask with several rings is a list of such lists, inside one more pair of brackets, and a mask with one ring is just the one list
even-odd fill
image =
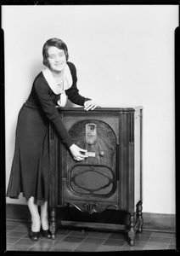
{"label": "woman's left-hand lower leg in pale stocking, farther from the cabinet", "polygon": [[35,202],[35,199],[33,196],[30,197],[30,199],[27,201],[27,205],[31,212],[31,230],[33,232],[39,232],[41,229],[41,220],[40,215],[38,212],[37,203]]}

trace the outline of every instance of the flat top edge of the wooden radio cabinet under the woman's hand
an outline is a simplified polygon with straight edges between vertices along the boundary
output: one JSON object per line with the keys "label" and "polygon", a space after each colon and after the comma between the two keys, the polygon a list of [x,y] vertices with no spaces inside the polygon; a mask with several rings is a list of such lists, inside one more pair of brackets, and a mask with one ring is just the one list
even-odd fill
{"label": "flat top edge of the wooden radio cabinet under the woman's hand", "polygon": [[[57,107],[58,111],[63,111],[63,112],[78,112],[78,113],[81,113],[81,112],[84,112],[84,108],[83,107],[72,107],[72,108],[60,108],[60,107]],[[126,107],[126,108],[95,108],[93,110],[93,113],[94,112],[97,112],[97,113],[102,113],[102,112],[111,112],[111,113],[115,113],[115,112],[135,112],[135,111],[138,111],[140,109],[143,109],[142,106],[138,106],[138,107]],[[89,112],[92,112],[92,111],[89,111]],[[87,111],[88,113],[88,111]]]}

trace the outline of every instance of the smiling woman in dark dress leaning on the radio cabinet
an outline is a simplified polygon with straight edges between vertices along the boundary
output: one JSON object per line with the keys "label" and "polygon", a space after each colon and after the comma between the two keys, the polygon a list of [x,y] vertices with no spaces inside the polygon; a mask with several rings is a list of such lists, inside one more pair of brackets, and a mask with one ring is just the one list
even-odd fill
{"label": "smiling woman in dark dress leaning on the radio cabinet", "polygon": [[[48,124],[54,125],[59,138],[70,149],[74,160],[84,160],[87,150],[73,144],[56,105],[64,107],[67,97],[71,102],[93,110],[97,104],[79,95],[76,87],[76,67],[68,61],[66,44],[51,38],[42,49],[46,66],[32,84],[31,94],[20,109],[16,128],[14,160],[8,183],[7,196],[18,198],[23,193],[31,212],[32,240],[40,233],[51,237],[48,226]],[[38,205],[41,205],[41,213]]]}

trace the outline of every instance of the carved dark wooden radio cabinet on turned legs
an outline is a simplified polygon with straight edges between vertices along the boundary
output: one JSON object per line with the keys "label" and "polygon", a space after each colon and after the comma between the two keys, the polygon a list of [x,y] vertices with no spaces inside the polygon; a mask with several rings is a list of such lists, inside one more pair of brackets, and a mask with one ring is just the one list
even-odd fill
{"label": "carved dark wooden radio cabinet on turned legs", "polygon": [[74,160],[49,125],[49,207],[53,238],[56,207],[76,207],[88,214],[111,209],[127,211],[128,224],[73,224],[102,228],[108,225],[126,230],[129,244],[134,245],[136,231],[141,232],[143,227],[143,108],[96,108],[87,112],[83,108],[58,108],[58,111],[73,142],[87,149],[89,157]]}

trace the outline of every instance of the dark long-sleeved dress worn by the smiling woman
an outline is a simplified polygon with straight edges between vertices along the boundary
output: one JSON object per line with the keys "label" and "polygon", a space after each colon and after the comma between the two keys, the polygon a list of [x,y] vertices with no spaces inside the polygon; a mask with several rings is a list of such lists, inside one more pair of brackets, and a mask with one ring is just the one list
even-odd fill
{"label": "dark long-sleeved dress worn by the smiling woman", "polygon": [[[66,90],[71,102],[80,106],[88,100],[79,95],[76,87],[76,67],[70,67],[73,84]],[[14,160],[8,182],[7,196],[19,198],[22,192],[26,200],[34,196],[37,200],[48,200],[48,125],[53,123],[59,138],[67,147],[72,141],[56,108],[60,95],[55,95],[42,72],[32,84],[31,94],[20,109],[16,128]]]}

